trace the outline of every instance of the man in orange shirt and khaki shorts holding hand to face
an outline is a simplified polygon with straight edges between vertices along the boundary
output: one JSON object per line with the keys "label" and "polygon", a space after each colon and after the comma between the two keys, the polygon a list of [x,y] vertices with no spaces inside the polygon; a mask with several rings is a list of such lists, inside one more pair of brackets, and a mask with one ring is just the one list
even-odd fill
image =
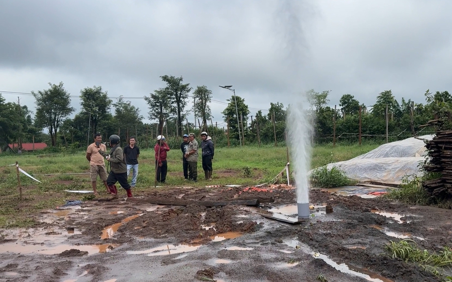
{"label": "man in orange shirt and khaki shorts holding hand to face", "polygon": [[104,157],[99,153],[99,149],[106,151],[106,147],[102,142],[101,133],[94,135],[94,143],[87,148],[87,160],[89,161],[89,172],[91,173],[91,185],[93,187],[94,195],[97,193],[97,176],[104,182],[107,192],[110,193],[107,185],[107,170],[105,168]]}

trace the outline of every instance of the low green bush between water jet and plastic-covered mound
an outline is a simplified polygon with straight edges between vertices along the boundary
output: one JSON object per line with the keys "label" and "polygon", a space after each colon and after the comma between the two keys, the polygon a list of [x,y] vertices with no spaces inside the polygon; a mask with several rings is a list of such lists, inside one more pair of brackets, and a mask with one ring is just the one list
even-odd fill
{"label": "low green bush between water jet and plastic-covered mound", "polygon": [[336,166],[333,166],[330,169],[328,169],[327,166],[314,169],[311,173],[310,181],[314,187],[322,188],[341,187],[353,184],[353,181]]}

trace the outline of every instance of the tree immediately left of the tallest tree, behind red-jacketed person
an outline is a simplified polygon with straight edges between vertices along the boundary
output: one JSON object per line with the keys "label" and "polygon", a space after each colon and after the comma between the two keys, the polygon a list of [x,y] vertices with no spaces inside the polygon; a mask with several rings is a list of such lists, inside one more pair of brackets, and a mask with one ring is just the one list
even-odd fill
{"label": "tree immediately left of the tallest tree, behind red-jacketed person", "polygon": [[163,121],[168,120],[171,117],[171,113],[174,112],[170,93],[165,88],[160,88],[151,93],[149,97],[145,96],[144,100],[148,103],[149,118],[158,120],[157,133],[160,134],[163,128]]}

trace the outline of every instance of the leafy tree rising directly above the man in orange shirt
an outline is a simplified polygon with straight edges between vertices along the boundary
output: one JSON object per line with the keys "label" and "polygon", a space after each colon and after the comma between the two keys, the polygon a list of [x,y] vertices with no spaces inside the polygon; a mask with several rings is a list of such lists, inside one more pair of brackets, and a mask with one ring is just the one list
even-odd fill
{"label": "leafy tree rising directly above the man in orange shirt", "polygon": [[97,133],[97,125],[110,111],[111,100],[107,91],[102,91],[102,86],[87,87],[80,90],[80,105],[89,115],[89,124],[92,132]]}

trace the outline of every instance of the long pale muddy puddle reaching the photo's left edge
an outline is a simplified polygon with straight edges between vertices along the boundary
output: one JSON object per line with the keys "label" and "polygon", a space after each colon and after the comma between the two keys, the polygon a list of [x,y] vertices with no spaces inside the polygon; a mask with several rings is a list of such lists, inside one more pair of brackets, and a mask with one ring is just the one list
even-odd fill
{"label": "long pale muddy puddle reaching the photo's left edge", "polygon": [[[117,245],[116,245],[117,246]],[[55,246],[46,246],[46,245],[22,245],[17,244],[16,242],[5,243],[0,245],[0,253],[20,253],[20,254],[29,254],[29,253],[38,253],[38,254],[46,254],[46,255],[54,255],[62,253],[65,250],[70,249],[78,249],[81,251],[87,251],[88,254],[95,253],[104,253],[113,249],[115,246],[110,244],[102,244],[102,245],[55,245]]]}

